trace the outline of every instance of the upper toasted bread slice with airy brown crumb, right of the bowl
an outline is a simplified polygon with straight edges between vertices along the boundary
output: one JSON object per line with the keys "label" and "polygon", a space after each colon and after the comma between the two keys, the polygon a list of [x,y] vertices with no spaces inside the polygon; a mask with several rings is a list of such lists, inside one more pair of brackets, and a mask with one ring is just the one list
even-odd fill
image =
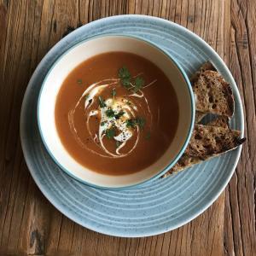
{"label": "upper toasted bread slice with airy brown crumb, right of the bowl", "polygon": [[195,94],[195,108],[202,113],[216,113],[231,117],[234,96],[230,84],[210,62],[205,63],[191,79]]}

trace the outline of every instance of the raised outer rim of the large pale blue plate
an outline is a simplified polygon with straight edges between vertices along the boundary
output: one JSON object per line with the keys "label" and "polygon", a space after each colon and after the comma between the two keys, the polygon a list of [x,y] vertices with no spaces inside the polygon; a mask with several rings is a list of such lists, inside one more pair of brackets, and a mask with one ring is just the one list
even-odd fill
{"label": "raised outer rim of the large pale blue plate", "polygon": [[[221,59],[221,57],[218,55],[218,53],[212,49],[212,47],[207,44],[206,41],[204,41],[202,38],[200,38],[198,35],[196,35],[194,32],[189,31],[189,29],[187,29],[184,26],[178,25],[175,22],[172,22],[171,20],[165,20],[159,17],[154,17],[154,16],[149,16],[149,15],[114,15],[114,16],[110,16],[110,17],[105,17],[99,20],[94,20],[88,24],[85,24],[84,26],[93,26],[95,23],[101,23],[104,21],[108,20],[119,20],[119,19],[125,19],[125,18],[135,18],[135,19],[148,19],[148,21],[160,21],[162,22],[162,24],[166,24],[167,26],[175,26],[178,29],[183,30],[183,32],[189,33],[190,36],[192,36],[193,38],[195,38],[195,40],[197,40],[198,42],[200,42],[201,44],[204,44],[204,46],[211,52],[212,55],[214,55],[214,57],[219,61],[219,63],[221,63],[222,67],[224,68],[224,71],[229,75],[229,79],[231,81],[232,84],[236,85],[236,81],[233,78],[232,74],[230,73],[229,68],[226,66],[226,64],[224,63],[224,61]],[[74,32],[71,32],[70,34],[68,34],[65,39],[66,41],[68,41],[68,39],[73,37],[73,34],[75,32],[78,32],[79,30],[83,29],[84,26],[79,27],[78,29],[76,29]],[[99,33],[101,34],[101,33]],[[61,39],[63,40],[63,38]],[[115,234],[114,232],[106,232],[105,230],[97,230],[95,228],[95,226],[91,225],[90,223],[87,223],[86,225],[84,223],[82,223],[82,221],[79,220],[79,218],[73,218],[73,216],[71,216],[72,214],[70,214],[65,206],[61,206],[60,203],[58,203],[57,201],[55,201],[55,198],[53,198],[52,195],[50,195],[51,193],[49,192],[48,189],[44,188],[44,185],[41,184],[39,178],[36,175],[36,172],[33,170],[32,167],[32,161],[30,160],[30,157],[28,155],[28,152],[26,151],[26,145],[25,145],[25,125],[23,125],[24,120],[25,120],[25,105],[26,105],[26,101],[27,101],[27,97],[29,94],[29,90],[31,90],[32,88],[32,84],[34,83],[34,80],[36,79],[37,75],[38,75],[38,71],[41,69],[41,67],[43,66],[43,63],[45,61],[47,61],[47,58],[49,55],[51,55],[51,53],[58,47],[59,43],[61,42],[61,40],[59,42],[57,42],[51,49],[49,49],[49,51],[47,52],[46,55],[44,55],[44,58],[38,63],[38,66],[36,67],[36,69],[34,70],[32,77],[29,81],[29,83],[27,84],[26,87],[26,92],[24,94],[24,98],[23,98],[23,102],[21,105],[21,111],[20,111],[20,142],[21,142],[21,148],[24,154],[24,158],[26,160],[26,165],[29,169],[29,172],[31,173],[33,180],[35,181],[35,183],[37,184],[38,188],[41,190],[41,192],[43,193],[43,195],[47,198],[47,200],[58,210],[60,211],[63,215],[65,215],[67,218],[70,218],[73,222],[80,224],[81,226],[84,226],[87,229],[108,235],[108,236],[119,236],[119,237],[146,237],[146,236],[155,236],[155,235],[160,235],[163,234],[167,231],[170,230],[175,230],[181,226],[183,226],[184,224],[188,224],[192,219],[198,217],[199,215],[201,215],[202,212],[205,212],[207,210],[208,207],[210,207],[212,205],[212,203],[214,201],[216,201],[218,199],[218,196],[224,191],[224,189],[226,188],[227,184],[230,182],[230,178],[233,176],[235,170],[236,170],[236,166],[238,163],[238,160],[240,159],[240,155],[241,155],[241,148],[242,146],[239,146],[238,148],[236,148],[237,150],[237,154],[236,154],[236,159],[233,161],[233,166],[230,169],[230,174],[228,177],[226,177],[226,179],[223,182],[223,185],[221,187],[219,187],[216,191],[216,194],[214,196],[212,196],[212,200],[207,201],[202,207],[198,208],[197,211],[194,214],[189,215],[188,218],[186,218],[185,220],[183,220],[182,222],[178,222],[178,224],[172,224],[172,227],[168,227],[168,228],[164,228],[155,232],[141,232],[139,235],[138,234],[124,234],[124,233],[119,233],[119,234]],[[243,107],[241,104],[241,95],[240,92],[238,90],[237,85],[235,86],[235,88],[232,88],[233,90],[236,90],[236,94],[238,95],[237,97],[237,105],[240,106],[241,108],[241,136],[243,136],[244,134],[244,111],[243,111]]]}

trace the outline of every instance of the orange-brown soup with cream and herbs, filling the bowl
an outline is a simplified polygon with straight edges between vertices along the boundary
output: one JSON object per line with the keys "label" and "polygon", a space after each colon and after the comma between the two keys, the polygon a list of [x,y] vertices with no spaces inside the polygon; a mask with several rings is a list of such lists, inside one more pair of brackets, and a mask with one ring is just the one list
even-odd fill
{"label": "orange-brown soup with cream and herbs, filling the bowl", "polygon": [[152,165],[177,130],[177,96],[154,63],[125,52],[73,69],[55,103],[61,143],[81,165],[123,175]]}

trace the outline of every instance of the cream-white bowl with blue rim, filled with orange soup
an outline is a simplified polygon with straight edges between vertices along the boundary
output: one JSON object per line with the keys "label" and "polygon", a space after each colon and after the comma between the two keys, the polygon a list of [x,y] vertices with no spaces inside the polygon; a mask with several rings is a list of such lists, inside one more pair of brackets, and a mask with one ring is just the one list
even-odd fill
{"label": "cream-white bowl with blue rim, filled with orange soup", "polygon": [[68,49],[38,96],[38,127],[56,164],[79,181],[127,188],[167,172],[189,143],[189,79],[142,38],[102,35]]}

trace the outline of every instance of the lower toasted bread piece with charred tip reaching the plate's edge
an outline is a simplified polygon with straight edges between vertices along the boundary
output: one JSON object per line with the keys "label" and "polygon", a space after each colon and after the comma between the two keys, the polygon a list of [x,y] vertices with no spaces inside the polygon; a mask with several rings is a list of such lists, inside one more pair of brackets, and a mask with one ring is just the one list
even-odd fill
{"label": "lower toasted bread piece with charred tip reaching the plate's edge", "polygon": [[[213,126],[213,125],[218,125],[218,126]],[[167,177],[174,172],[183,171],[184,169],[189,168],[190,166],[194,166],[196,164],[201,163],[201,161],[203,160],[209,160],[212,157],[218,156],[219,154],[223,154],[229,150],[236,148],[237,146],[239,146],[241,143],[245,141],[245,138],[242,138],[242,139],[240,138],[241,136],[240,131],[229,130],[229,119],[224,116],[218,116],[216,119],[213,119],[207,125],[195,125],[195,126],[197,127],[195,128],[195,132],[193,133],[193,136],[194,136],[193,143],[190,140],[189,146],[186,149],[183,156],[177,161],[177,164],[173,166],[169,172],[166,172],[166,174],[163,177]],[[211,126],[212,126],[212,129],[211,129]],[[201,131],[203,130],[205,131],[201,133]],[[207,136],[203,137],[209,130],[211,132],[209,132]],[[226,137],[229,138],[230,143],[227,143],[227,145],[225,145],[224,147],[221,147],[220,145],[221,143],[219,143],[218,139],[216,143],[216,138],[215,138],[216,131],[222,132],[221,136],[227,133]],[[195,137],[198,134],[200,134],[200,137],[202,137],[202,139],[200,139],[199,141],[196,141]],[[202,155],[201,151],[199,151],[200,154],[195,155],[195,150],[189,149],[189,147],[192,147],[192,148],[196,148],[196,150],[200,150],[201,147],[202,148],[208,147],[208,143],[211,142],[211,138],[209,137],[212,137],[212,141],[213,140],[215,141],[216,150],[212,154],[207,154],[207,152],[205,151],[205,155]],[[209,139],[210,141],[208,141]]]}

